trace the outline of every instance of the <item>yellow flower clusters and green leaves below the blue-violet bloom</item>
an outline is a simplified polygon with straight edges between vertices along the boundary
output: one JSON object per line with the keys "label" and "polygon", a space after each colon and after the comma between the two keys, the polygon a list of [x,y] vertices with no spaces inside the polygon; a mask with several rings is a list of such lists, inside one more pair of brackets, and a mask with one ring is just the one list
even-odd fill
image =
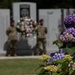
{"label": "yellow flower clusters and green leaves below the blue-violet bloom", "polygon": [[75,75],[75,63],[72,61],[73,57],[69,54],[56,60],[53,60],[50,55],[42,55],[41,58],[44,62],[39,65],[41,70],[37,75]]}

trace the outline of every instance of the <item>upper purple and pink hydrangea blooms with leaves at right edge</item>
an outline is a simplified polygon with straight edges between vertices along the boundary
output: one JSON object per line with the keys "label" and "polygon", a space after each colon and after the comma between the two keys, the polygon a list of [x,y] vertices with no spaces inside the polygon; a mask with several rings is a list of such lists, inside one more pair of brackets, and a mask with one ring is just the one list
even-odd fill
{"label": "upper purple and pink hydrangea blooms with leaves at right edge", "polygon": [[66,30],[59,36],[59,39],[53,41],[58,48],[65,48],[67,53],[75,54],[75,14],[68,15],[64,19]]}

